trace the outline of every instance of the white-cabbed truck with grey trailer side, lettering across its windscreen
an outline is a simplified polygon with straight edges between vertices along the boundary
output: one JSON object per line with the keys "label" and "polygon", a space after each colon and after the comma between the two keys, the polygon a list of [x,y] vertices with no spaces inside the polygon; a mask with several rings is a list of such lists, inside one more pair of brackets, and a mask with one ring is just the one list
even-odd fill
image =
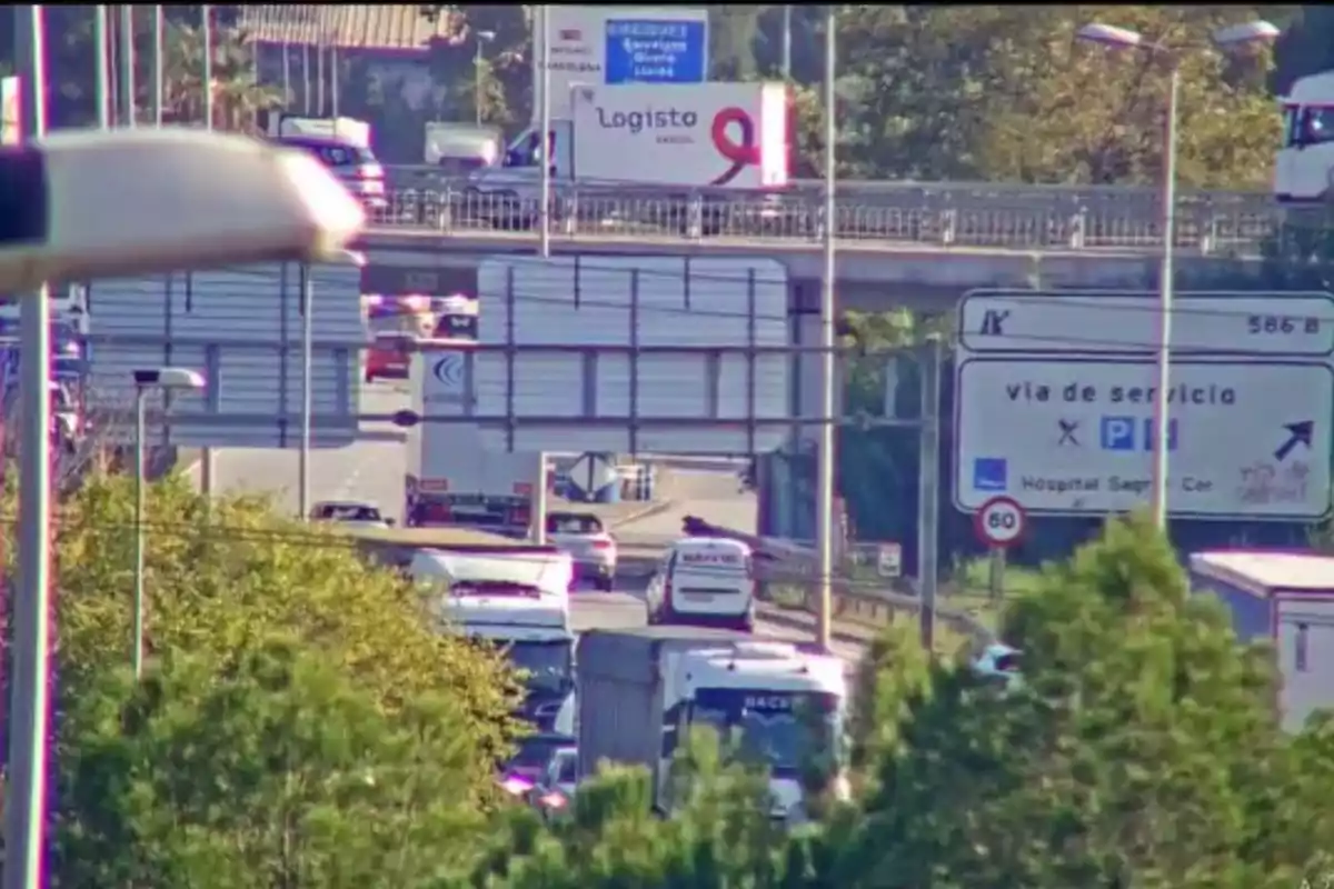
{"label": "white-cabbed truck with grey trailer side, lettering across its windscreen", "polygon": [[[671,810],[670,766],[691,726],[739,741],[770,769],[774,818],[804,818],[800,774],[843,750],[844,665],[787,642],[700,628],[595,629],[579,645],[579,774],[603,760],[647,768],[654,808]],[[839,773],[835,790],[846,793]]]}

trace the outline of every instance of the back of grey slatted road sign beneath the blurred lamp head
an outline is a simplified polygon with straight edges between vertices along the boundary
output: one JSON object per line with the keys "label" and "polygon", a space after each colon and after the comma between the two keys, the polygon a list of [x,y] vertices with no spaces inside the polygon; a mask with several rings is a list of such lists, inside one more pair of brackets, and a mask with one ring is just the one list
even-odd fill
{"label": "back of grey slatted road sign beneath the blurred lamp head", "polygon": [[[366,341],[360,269],[319,264],[312,277],[312,444],[340,448],[358,433],[362,356],[347,343]],[[251,265],[88,285],[89,409],[109,417],[112,440],[132,435],[135,368],[200,371],[204,393],[175,393],[169,405],[149,396],[149,411],[171,420],[151,424],[153,444],[180,446],[296,448],[301,413],[301,280],[297,264]],[[339,347],[320,347],[338,343]]]}

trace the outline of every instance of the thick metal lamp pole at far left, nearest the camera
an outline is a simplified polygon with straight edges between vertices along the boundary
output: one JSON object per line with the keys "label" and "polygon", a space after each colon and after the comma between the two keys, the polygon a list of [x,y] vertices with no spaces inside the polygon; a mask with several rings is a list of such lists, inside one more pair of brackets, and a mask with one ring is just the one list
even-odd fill
{"label": "thick metal lamp pole at far left, nearest the camera", "polygon": [[[43,7],[15,12],[15,61],[25,88],[27,136],[45,131]],[[11,592],[9,776],[4,789],[4,889],[40,886],[47,825],[47,690],[51,570],[51,308],[40,287],[20,304],[23,427],[19,464],[19,582]]]}

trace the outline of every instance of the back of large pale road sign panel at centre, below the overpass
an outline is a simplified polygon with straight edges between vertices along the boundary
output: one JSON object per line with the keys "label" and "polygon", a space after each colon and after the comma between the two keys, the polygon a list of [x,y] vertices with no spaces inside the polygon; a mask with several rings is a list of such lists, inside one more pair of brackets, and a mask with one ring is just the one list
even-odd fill
{"label": "back of large pale road sign panel at centre, below the overpass", "polygon": [[490,449],[738,454],[791,435],[775,260],[492,256],[478,295],[464,403]]}

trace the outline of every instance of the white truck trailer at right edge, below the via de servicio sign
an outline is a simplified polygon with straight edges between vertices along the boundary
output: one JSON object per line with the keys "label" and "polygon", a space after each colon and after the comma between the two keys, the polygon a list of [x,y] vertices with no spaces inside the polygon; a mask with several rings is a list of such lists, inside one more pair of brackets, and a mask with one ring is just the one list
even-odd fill
{"label": "white truck trailer at right edge, below the via de servicio sign", "polygon": [[1334,557],[1201,552],[1190,557],[1190,581],[1227,606],[1238,640],[1273,641],[1285,729],[1301,730],[1313,712],[1334,706]]}

